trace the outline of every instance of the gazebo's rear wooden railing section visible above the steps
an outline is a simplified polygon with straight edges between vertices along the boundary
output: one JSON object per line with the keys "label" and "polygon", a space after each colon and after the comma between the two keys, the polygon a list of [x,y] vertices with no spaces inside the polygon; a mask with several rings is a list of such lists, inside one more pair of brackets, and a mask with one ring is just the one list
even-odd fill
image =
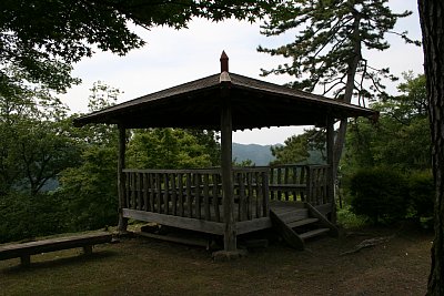
{"label": "gazebo's rear wooden railing section visible above the steps", "polygon": [[329,203],[329,165],[273,165],[270,167],[270,200]]}

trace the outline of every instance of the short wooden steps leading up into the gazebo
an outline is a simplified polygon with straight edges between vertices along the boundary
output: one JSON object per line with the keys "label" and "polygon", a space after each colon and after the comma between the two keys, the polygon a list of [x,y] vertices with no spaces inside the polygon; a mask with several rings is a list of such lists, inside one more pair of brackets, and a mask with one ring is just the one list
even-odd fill
{"label": "short wooden steps leading up into the gazebo", "polygon": [[296,249],[304,249],[307,238],[326,233],[334,236],[339,234],[337,228],[323,214],[306,203],[303,207],[272,205],[270,217],[282,238]]}

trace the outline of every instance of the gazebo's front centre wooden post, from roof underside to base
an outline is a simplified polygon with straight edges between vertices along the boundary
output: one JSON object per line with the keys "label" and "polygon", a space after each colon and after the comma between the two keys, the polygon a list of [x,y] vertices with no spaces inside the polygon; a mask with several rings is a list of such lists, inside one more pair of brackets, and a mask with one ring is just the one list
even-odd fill
{"label": "gazebo's front centre wooden post, from roof underside to base", "polygon": [[[224,91],[224,90],[222,90]],[[230,98],[224,95],[221,110],[221,149],[222,149],[222,203],[225,231],[223,245],[225,252],[236,251],[236,229],[234,222],[233,170],[232,170],[232,118]]]}

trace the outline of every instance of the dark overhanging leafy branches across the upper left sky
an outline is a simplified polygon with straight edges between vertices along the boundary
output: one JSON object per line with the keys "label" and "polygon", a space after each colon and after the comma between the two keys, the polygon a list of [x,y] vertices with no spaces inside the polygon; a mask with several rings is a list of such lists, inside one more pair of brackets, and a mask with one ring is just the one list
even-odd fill
{"label": "dark overhanging leafy branches across the upper left sky", "polygon": [[[79,80],[72,64],[94,49],[123,55],[144,41],[131,23],[147,29],[186,27],[192,17],[219,21],[235,17],[253,20],[276,1],[82,1],[3,0],[0,17],[0,94],[27,88],[3,69],[14,67],[20,81],[63,91]],[[20,86],[20,88],[19,88]]]}

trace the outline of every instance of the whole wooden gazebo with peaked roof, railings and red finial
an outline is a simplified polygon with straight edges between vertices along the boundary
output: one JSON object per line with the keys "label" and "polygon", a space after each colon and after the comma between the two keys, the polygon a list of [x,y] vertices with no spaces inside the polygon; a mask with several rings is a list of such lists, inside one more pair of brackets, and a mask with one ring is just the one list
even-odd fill
{"label": "whole wooden gazebo with peaked roof, railings and red finial", "polygon": [[[334,233],[333,142],[336,120],[366,116],[370,109],[292,90],[229,72],[221,73],[81,116],[77,126],[117,124],[119,144],[119,229],[127,220],[155,222],[223,235],[224,251],[236,252],[236,236],[273,225],[290,243],[316,233],[293,227],[316,222]],[[232,167],[235,130],[316,125],[327,133],[327,165]],[[124,167],[125,130],[195,127],[221,132],[221,167],[208,170],[130,170]],[[290,210],[289,210],[290,208]],[[290,218],[292,216],[292,218]],[[322,231],[317,231],[321,233]]]}

